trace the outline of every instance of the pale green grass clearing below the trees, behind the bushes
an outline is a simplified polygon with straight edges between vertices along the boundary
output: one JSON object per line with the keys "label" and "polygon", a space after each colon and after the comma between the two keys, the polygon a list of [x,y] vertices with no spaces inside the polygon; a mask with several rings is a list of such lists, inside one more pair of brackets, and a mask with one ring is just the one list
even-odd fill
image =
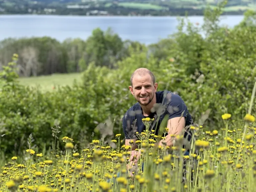
{"label": "pale green grass clearing below the trees, behind the bushes", "polygon": [[54,74],[40,77],[22,77],[19,78],[19,82],[30,87],[40,86],[43,91],[52,91],[54,86],[71,86],[75,79],[77,82],[81,82],[81,77],[82,73]]}

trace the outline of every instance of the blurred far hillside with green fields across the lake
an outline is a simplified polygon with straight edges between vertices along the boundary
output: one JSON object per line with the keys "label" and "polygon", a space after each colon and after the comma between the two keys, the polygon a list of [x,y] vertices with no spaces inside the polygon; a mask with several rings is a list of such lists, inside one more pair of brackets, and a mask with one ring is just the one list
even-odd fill
{"label": "blurred far hillside with green fields across the lake", "polygon": [[[4,0],[0,14],[57,15],[203,15],[207,6],[221,0]],[[256,10],[256,0],[228,0],[223,14],[243,14]]]}

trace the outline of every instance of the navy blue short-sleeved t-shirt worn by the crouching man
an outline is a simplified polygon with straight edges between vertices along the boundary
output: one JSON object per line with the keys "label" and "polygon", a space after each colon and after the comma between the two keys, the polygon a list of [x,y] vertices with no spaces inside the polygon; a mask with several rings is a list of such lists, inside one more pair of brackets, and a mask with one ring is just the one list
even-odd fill
{"label": "navy blue short-sleeved t-shirt worn by the crouching man", "polygon": [[[169,115],[169,119],[181,116],[185,117],[185,127],[193,123],[192,117],[188,112],[187,106],[185,105],[184,101],[179,95],[174,94],[170,91],[158,91],[156,92],[156,103],[162,107],[158,108],[158,112],[152,112],[149,116],[143,115],[142,108],[138,102],[127,110],[123,117],[123,132],[125,134],[126,139],[134,139],[136,138],[136,132],[141,133],[146,129],[145,125],[142,122],[143,118],[155,118],[156,121],[156,114],[159,113],[160,118],[158,123],[155,123],[154,125],[152,125],[153,127],[150,128],[150,130],[155,130],[155,134],[157,135],[159,132],[159,126],[166,114]],[[185,134],[184,138],[188,138],[186,132]]]}

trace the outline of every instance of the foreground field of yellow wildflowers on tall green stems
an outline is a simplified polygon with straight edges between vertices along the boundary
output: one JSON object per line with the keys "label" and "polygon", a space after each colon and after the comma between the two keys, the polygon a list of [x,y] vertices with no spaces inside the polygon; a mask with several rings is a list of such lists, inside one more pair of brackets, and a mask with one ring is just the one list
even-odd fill
{"label": "foreground field of yellow wildflowers on tall green stems", "polygon": [[[247,114],[244,127],[229,126],[231,114],[220,119],[226,125],[221,131],[190,127],[196,140],[189,155],[184,155],[181,136],[173,136],[175,146],[155,145],[162,137],[148,129],[153,120],[144,119],[147,129],[138,134],[141,156],[138,165],[129,168],[132,174],[126,166],[131,146],[122,144],[121,134],[111,140],[111,146],[93,140],[80,153],[73,151],[72,138],[63,137],[63,152],[28,149],[27,160],[21,163],[13,157],[1,169],[0,191],[253,191],[256,128],[251,123],[255,118]],[[166,131],[163,126],[161,130]]]}

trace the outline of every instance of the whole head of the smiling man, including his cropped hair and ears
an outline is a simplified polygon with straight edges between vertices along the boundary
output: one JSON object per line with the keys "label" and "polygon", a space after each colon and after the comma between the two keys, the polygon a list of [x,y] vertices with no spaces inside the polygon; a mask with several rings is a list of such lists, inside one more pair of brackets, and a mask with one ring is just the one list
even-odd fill
{"label": "whole head of the smiling man, including his cropped hair and ears", "polygon": [[129,89],[134,98],[143,106],[150,104],[157,91],[153,73],[146,68],[136,69],[131,76]]}

